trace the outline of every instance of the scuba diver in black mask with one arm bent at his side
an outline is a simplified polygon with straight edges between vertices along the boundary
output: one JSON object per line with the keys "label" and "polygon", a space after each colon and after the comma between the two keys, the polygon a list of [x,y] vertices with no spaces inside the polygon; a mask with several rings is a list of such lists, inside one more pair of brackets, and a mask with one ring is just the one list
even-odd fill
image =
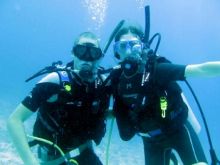
{"label": "scuba diver in black mask with one arm bent at his side", "polygon": [[[101,165],[93,149],[106,130],[105,112],[109,94],[103,92],[104,77],[98,74],[103,53],[98,38],[84,32],[72,49],[73,65],[49,73],[17,106],[7,123],[9,133],[24,164]],[[74,69],[73,69],[74,68]],[[33,136],[38,141],[38,158],[32,153],[23,123],[37,112]],[[49,145],[43,141],[51,141]],[[65,157],[54,146],[59,146]]]}

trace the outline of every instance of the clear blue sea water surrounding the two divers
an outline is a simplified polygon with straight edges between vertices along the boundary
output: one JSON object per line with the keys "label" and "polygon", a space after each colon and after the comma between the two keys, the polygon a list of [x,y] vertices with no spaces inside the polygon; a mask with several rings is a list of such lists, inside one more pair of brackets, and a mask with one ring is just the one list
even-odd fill
{"label": "clear blue sea water surrounding the two divers", "polygon": [[[158,53],[178,64],[201,63],[220,59],[220,1],[218,0],[1,0],[0,1],[0,164],[19,164],[19,158],[5,128],[5,119],[30,91],[25,83],[30,75],[53,61],[71,60],[74,38],[93,31],[104,47],[112,29],[121,19],[135,19],[144,25],[144,6],[151,6],[151,36],[160,32]],[[112,47],[103,66],[115,65]],[[220,77],[191,78],[204,109],[216,154],[220,157],[219,93]],[[186,86],[181,83],[198,120],[198,108]],[[200,139],[208,160],[209,146],[202,125]],[[31,130],[30,126],[27,126]],[[97,152],[105,159],[107,138]],[[144,162],[137,137],[122,142],[114,128],[110,164]],[[16,162],[16,163],[15,163]]]}

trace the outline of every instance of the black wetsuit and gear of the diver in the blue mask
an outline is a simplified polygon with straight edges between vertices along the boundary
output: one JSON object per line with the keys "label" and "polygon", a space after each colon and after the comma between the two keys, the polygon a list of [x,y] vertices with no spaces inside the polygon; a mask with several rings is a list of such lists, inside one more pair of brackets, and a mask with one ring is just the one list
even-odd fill
{"label": "black wetsuit and gear of the diver in the blue mask", "polygon": [[[127,141],[135,134],[142,136],[146,165],[168,165],[171,149],[184,165],[206,162],[199,139],[187,122],[188,109],[176,83],[184,80],[184,72],[185,66],[158,62],[146,76],[128,77],[122,69],[111,73],[120,137]],[[164,99],[167,107],[162,115]]]}

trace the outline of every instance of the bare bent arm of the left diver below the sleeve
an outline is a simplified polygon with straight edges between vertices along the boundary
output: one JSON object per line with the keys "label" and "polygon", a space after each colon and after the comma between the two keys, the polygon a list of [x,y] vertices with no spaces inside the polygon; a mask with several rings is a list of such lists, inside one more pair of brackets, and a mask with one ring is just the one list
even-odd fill
{"label": "bare bent arm of the left diver below the sleeve", "polygon": [[14,145],[25,165],[39,165],[38,160],[32,153],[23,122],[27,120],[34,112],[26,108],[23,104],[18,105],[7,121],[9,134]]}

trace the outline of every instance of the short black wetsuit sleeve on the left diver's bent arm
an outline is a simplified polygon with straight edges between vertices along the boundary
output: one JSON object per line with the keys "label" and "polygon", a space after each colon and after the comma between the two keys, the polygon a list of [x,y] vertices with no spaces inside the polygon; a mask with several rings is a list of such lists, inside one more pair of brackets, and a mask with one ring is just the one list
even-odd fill
{"label": "short black wetsuit sleeve on the left diver's bent arm", "polygon": [[22,104],[35,112],[40,105],[46,102],[52,95],[59,92],[60,86],[54,83],[39,83],[31,91],[30,95],[24,98]]}

